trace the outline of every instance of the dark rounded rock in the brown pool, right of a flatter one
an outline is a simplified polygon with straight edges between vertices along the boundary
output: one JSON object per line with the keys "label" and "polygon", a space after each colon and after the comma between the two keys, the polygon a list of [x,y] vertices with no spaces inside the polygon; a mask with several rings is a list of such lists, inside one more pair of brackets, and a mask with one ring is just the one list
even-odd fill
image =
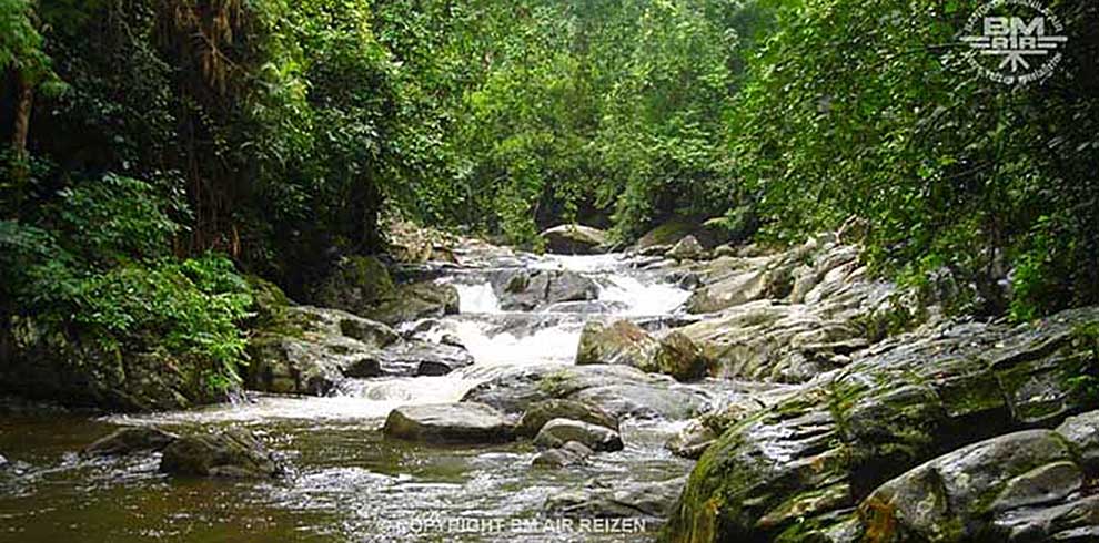
{"label": "dark rounded rock in the brown pool, right of a flatter one", "polygon": [[228,479],[264,479],[284,469],[249,431],[185,436],[169,444],[160,471],[172,475]]}

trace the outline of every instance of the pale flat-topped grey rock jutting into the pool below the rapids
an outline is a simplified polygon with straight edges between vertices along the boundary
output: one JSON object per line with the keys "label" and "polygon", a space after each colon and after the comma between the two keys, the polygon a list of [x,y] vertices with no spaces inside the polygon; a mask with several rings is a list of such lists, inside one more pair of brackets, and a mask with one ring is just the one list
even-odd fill
{"label": "pale flat-topped grey rock jutting into the pool below the rapids", "polygon": [[427,443],[502,443],[514,438],[513,424],[500,411],[474,402],[397,408],[382,432]]}

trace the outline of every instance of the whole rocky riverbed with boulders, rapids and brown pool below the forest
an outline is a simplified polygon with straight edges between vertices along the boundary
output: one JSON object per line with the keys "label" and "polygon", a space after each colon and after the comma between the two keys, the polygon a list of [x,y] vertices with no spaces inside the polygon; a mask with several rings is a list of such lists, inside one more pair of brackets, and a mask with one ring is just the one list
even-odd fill
{"label": "whole rocky riverbed with boulders, rapids and brown pool below the forest", "polygon": [[1099,309],[946,319],[835,235],[689,234],[266,286],[231,404],[7,408],[0,540],[1099,536]]}

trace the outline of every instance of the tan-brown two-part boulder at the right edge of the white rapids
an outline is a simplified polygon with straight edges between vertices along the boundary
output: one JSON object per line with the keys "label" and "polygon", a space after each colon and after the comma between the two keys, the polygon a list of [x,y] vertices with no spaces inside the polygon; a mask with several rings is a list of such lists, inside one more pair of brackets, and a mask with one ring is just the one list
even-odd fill
{"label": "tan-brown two-part boulder at the right edge of the white rapids", "polygon": [[698,379],[707,370],[702,352],[687,336],[672,332],[656,339],[628,320],[609,325],[593,320],[585,325],[576,363],[621,363],[684,381]]}

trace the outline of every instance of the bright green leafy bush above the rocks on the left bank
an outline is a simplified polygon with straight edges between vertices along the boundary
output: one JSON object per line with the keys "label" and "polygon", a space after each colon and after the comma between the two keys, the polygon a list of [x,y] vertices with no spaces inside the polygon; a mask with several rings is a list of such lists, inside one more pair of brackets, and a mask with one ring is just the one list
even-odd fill
{"label": "bright green leafy bush above the rocks on the left bank", "polygon": [[170,207],[153,185],[107,174],[60,191],[38,226],[0,221],[3,314],[109,352],[209,361],[212,382],[235,386],[250,288],[223,257],[170,255]]}

